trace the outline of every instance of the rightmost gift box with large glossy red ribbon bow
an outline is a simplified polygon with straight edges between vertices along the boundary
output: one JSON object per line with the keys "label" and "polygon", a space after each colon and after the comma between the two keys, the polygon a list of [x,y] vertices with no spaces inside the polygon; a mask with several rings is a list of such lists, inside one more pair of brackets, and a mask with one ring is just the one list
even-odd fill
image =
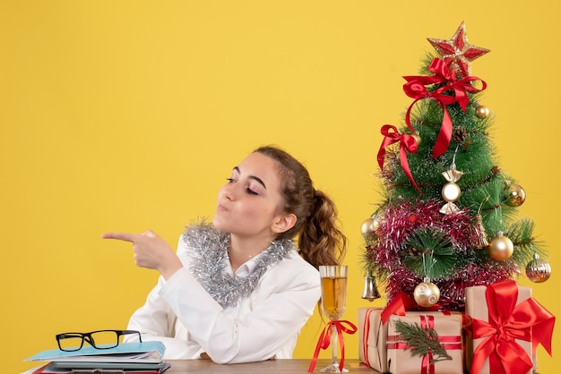
{"label": "rightmost gift box with large glossy red ribbon bow", "polygon": [[551,354],[555,317],[514,281],[467,287],[466,359],[470,373],[531,374],[535,350]]}

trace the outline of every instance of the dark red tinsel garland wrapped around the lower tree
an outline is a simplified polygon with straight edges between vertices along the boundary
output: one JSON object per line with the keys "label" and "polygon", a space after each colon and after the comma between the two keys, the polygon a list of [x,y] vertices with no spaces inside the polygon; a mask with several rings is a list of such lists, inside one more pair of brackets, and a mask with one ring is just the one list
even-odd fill
{"label": "dark red tinsel garland wrapped around the lower tree", "polygon": [[[488,285],[512,278],[514,272],[510,262],[498,263],[489,259],[476,259],[474,243],[479,242],[483,233],[475,215],[459,210],[450,215],[439,212],[442,201],[399,200],[384,208],[376,229],[376,241],[367,247],[366,260],[381,277],[388,302],[400,292],[412,295],[416,285],[423,282],[423,275],[413,274],[405,268],[403,256],[408,249],[406,243],[419,230],[438,230],[450,238],[457,256],[469,258],[468,266],[454,270],[453,276],[431,279],[438,286],[442,309],[462,310],[464,308],[464,287]],[[485,266],[475,261],[485,260]]]}

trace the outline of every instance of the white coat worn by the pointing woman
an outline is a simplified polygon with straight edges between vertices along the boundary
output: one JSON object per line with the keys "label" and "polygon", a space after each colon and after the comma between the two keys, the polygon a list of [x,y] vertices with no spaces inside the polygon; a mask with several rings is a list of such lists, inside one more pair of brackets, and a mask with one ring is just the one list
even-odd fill
{"label": "white coat worn by the pointing woman", "polygon": [[[142,340],[163,342],[166,359],[198,359],[201,353],[217,363],[291,358],[299,331],[321,296],[318,271],[290,251],[248,297],[222,308],[190,273],[187,253],[179,245],[184,268],[167,282],[160,276],[128,328],[141,331]],[[236,276],[247,276],[254,260],[238,268]],[[231,268],[226,271],[232,275]]]}

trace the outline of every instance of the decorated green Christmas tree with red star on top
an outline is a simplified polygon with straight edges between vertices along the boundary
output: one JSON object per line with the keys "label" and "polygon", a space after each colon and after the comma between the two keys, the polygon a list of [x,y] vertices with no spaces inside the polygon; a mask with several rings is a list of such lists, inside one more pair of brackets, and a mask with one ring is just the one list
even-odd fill
{"label": "decorated green Christmas tree with red star on top", "polygon": [[[421,306],[463,310],[464,288],[516,279],[533,282],[550,268],[534,222],[518,217],[522,186],[496,163],[481,104],[487,84],[471,62],[489,52],[471,46],[460,25],[451,39],[428,38],[420,75],[405,76],[412,98],[400,128],[382,126],[377,154],[383,202],[363,223],[364,265],[384,287]],[[540,258],[541,257],[541,258]]]}

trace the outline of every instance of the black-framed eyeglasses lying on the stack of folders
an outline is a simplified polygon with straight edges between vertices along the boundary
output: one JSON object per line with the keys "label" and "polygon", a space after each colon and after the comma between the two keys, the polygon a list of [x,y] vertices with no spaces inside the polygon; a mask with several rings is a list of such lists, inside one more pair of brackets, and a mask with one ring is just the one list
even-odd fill
{"label": "black-framed eyeglasses lying on the stack of folders", "polygon": [[56,335],[56,343],[61,351],[73,352],[82,349],[83,342],[90,344],[96,349],[115,348],[123,343],[123,336],[138,334],[138,340],[142,343],[140,331],[136,330],[98,330],[90,333],[64,333]]}

